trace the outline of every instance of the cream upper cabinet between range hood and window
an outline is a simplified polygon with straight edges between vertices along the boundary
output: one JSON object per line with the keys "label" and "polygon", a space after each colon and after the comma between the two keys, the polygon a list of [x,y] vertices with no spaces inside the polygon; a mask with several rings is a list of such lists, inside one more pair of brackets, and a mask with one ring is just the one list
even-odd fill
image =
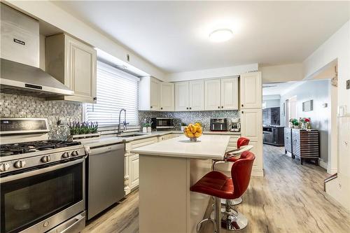
{"label": "cream upper cabinet between range hood and window", "polygon": [[96,103],[96,61],[96,50],[75,38],[45,38],[45,71],[74,91],[59,99]]}

